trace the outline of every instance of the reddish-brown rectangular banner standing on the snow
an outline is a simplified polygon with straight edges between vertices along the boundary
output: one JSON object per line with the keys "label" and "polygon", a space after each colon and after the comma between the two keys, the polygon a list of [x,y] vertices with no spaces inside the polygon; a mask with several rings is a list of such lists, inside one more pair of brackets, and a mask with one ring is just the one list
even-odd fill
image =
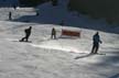
{"label": "reddish-brown rectangular banner standing on the snow", "polygon": [[80,37],[80,31],[78,32],[78,31],[62,30],[62,35]]}

